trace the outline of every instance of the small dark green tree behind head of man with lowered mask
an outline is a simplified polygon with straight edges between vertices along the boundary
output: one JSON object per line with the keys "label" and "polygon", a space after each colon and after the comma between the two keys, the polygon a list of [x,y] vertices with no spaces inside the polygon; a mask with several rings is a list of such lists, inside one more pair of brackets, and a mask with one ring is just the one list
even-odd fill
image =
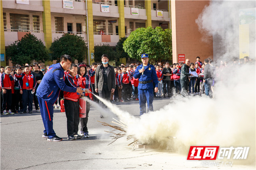
{"label": "small dark green tree behind head of man with lowered mask", "polygon": [[109,60],[119,59],[120,55],[117,53],[113,48],[109,47],[109,44],[103,44],[102,46],[95,46],[94,47],[94,60],[95,62],[101,62],[101,56],[103,54],[108,55]]}

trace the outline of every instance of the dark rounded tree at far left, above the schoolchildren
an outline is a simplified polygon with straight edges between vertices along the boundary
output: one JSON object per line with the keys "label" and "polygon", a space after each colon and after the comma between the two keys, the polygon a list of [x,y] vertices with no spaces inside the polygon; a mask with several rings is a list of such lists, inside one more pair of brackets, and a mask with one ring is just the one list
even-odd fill
{"label": "dark rounded tree at far left, above the schoolchildren", "polygon": [[15,41],[6,49],[6,56],[12,62],[19,64],[31,63],[32,60],[45,62],[49,55],[41,40],[32,34],[26,34],[19,41]]}

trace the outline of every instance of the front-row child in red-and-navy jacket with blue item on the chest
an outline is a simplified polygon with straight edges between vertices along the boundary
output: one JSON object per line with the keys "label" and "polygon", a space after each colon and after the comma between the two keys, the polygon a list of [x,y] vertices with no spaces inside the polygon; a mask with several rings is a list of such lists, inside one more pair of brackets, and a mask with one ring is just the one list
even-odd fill
{"label": "front-row child in red-and-navy jacket with blue item on the chest", "polygon": [[33,93],[35,92],[35,86],[37,81],[35,76],[31,74],[29,66],[24,66],[24,73],[20,80],[20,94],[22,94],[22,112],[32,113],[32,102],[33,102]]}

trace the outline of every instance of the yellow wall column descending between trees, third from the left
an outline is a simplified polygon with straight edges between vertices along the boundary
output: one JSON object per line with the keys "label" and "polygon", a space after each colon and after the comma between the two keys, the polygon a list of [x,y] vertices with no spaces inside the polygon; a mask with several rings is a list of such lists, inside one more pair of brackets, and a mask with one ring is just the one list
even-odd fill
{"label": "yellow wall column descending between trees, third from the left", "polygon": [[[87,14],[88,14],[88,30],[87,34],[89,36],[88,43],[89,43],[89,52],[90,55],[87,58],[87,64],[92,64],[94,59],[91,58],[91,53],[94,53],[94,37],[93,37],[93,1],[87,0]],[[86,28],[87,29],[87,28]]]}

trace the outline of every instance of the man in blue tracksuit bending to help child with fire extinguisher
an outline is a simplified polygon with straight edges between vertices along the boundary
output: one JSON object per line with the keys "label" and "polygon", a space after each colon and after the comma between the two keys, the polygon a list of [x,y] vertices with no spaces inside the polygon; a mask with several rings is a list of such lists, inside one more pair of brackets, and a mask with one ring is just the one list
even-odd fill
{"label": "man in blue tracksuit bending to help child with fire extinguisher", "polygon": [[45,126],[43,137],[47,141],[61,141],[53,130],[53,105],[59,97],[59,91],[82,93],[80,87],[69,87],[65,84],[64,71],[69,69],[72,58],[69,55],[62,55],[60,62],[52,64],[37,88],[37,98],[41,110],[41,116]]}

